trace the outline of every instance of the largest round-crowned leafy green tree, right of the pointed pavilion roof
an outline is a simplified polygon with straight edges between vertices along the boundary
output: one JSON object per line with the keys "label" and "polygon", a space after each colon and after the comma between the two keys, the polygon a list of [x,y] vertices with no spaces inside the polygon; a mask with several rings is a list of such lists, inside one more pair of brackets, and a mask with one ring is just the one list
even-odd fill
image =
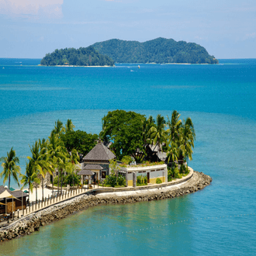
{"label": "largest round-crowned leafy green tree, right of the pointed pavilion roof", "polygon": [[140,159],[138,151],[145,153],[142,121],[145,116],[136,112],[115,110],[102,118],[102,140],[112,141],[111,149],[117,159],[132,155],[136,161]]}

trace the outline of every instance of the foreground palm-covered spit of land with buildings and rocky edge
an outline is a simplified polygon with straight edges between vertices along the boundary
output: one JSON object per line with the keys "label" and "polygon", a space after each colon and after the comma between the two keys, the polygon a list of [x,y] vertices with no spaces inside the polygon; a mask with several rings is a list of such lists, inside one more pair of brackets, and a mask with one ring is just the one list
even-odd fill
{"label": "foreground palm-covered spit of land with buildings and rocky edge", "polygon": [[[0,158],[0,177],[9,183],[9,189],[0,185],[0,242],[88,207],[174,199],[205,188],[212,178],[188,165],[192,119],[179,117],[177,111],[165,120],[117,109],[102,118],[99,135],[57,120],[50,137],[30,147],[24,175],[11,148]],[[28,191],[10,188],[11,176]]]}

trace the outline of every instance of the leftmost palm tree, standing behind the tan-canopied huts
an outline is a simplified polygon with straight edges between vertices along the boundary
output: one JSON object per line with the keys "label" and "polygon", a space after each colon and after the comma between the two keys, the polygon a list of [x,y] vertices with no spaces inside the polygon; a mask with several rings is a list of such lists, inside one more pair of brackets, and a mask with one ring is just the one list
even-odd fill
{"label": "leftmost palm tree, standing behind the tan-canopied huts", "polygon": [[1,157],[0,161],[3,161],[2,168],[4,168],[0,174],[0,178],[4,176],[4,183],[9,179],[9,189],[11,176],[19,185],[20,167],[17,165],[19,164],[19,157],[16,157],[16,151],[11,148],[10,152],[7,152],[7,157]]}

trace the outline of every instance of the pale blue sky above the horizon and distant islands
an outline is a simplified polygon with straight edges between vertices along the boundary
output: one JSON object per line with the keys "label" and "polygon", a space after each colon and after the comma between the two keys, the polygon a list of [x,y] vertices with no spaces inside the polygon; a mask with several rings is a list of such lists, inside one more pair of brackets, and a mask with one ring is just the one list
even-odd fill
{"label": "pale blue sky above the horizon and distant islands", "polygon": [[255,0],[0,0],[0,24],[0,57],[164,37],[220,59],[256,58]]}

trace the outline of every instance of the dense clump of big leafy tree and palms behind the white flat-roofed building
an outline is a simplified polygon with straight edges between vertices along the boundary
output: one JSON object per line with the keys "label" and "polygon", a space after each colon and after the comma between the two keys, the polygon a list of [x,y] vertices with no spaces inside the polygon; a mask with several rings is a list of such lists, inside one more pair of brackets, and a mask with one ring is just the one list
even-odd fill
{"label": "dense clump of big leafy tree and palms behind the white flat-roofed building", "polygon": [[[115,110],[102,118],[99,136],[112,142],[110,148],[118,160],[125,157],[126,161],[126,156],[131,155],[138,163],[146,160],[144,164],[147,166],[150,165],[147,160],[160,162],[156,152],[164,151],[168,162],[183,165],[192,160],[195,130],[191,118],[182,122],[179,117],[177,111],[173,111],[171,119],[166,121],[161,115],[147,119],[136,112]],[[120,166],[126,167],[126,164]]]}

